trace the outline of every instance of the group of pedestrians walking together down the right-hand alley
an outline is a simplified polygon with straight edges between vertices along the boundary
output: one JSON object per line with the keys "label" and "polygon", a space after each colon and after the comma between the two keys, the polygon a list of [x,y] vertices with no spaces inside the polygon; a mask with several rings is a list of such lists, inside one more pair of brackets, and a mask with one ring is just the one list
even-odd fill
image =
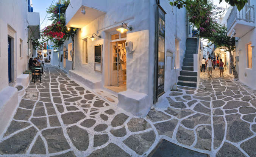
{"label": "group of pedestrians walking together down the right-hand alley", "polygon": [[220,69],[220,77],[222,74],[222,77],[224,77],[223,72],[224,72],[224,67],[226,69],[225,64],[222,62],[222,59],[219,60],[219,58],[217,58],[217,61],[215,60],[215,58],[211,58],[210,56],[208,57],[208,60],[206,60],[203,57],[203,60],[201,61],[201,72],[203,72],[203,70],[205,71],[205,69],[208,69],[208,77],[212,77],[212,69],[215,69],[215,67],[219,67]]}

